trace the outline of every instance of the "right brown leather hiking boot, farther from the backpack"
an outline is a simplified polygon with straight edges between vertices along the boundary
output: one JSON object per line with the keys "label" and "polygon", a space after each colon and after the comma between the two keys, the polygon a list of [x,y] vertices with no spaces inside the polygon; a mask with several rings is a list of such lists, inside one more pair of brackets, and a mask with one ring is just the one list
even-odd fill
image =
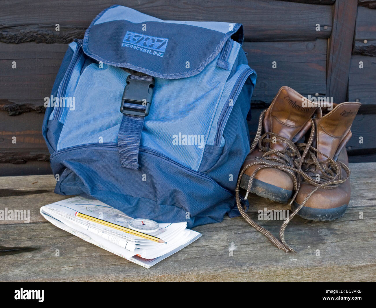
{"label": "right brown leather hiking boot, farther from the backpack", "polygon": [[[352,136],[351,124],[360,106],[361,103],[352,102],[334,104],[332,111],[321,109],[324,115],[319,109],[314,119],[315,136],[312,142],[316,149],[309,152],[302,165],[308,177],[303,176],[304,181],[291,205],[294,211],[310,196],[297,212],[300,217],[324,221],[337,219],[345,213],[350,201],[350,171],[345,146]],[[346,181],[333,182],[341,177]],[[323,184],[327,181],[332,184]],[[312,193],[318,185],[323,186]]]}

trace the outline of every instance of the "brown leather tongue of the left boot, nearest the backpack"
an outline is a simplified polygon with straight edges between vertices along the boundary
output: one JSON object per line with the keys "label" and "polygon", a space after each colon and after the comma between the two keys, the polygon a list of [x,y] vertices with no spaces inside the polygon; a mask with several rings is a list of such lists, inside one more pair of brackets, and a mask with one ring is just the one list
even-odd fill
{"label": "brown leather tongue of the left boot, nearest the backpack", "polygon": [[[282,137],[298,141],[308,131],[316,107],[303,104],[304,97],[283,86],[271,103],[264,118],[264,127],[267,131]],[[303,106],[304,105],[304,106]],[[285,143],[270,143],[271,149],[286,149]]]}

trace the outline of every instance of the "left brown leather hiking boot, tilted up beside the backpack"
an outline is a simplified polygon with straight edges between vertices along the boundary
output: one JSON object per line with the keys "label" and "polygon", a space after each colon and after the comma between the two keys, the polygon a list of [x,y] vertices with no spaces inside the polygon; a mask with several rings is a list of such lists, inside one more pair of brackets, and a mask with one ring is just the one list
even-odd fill
{"label": "left brown leather hiking boot, tilted up beside the backpack", "polygon": [[[310,119],[317,109],[302,107],[302,103],[302,95],[283,86],[270,107],[261,114],[251,151],[241,167],[243,170],[250,165],[240,181],[240,187],[247,190],[246,198],[250,191],[281,203],[287,203],[290,199],[294,188],[293,171],[265,166],[294,165],[293,159],[298,153],[294,143],[309,130]],[[251,178],[252,187],[248,187]]]}

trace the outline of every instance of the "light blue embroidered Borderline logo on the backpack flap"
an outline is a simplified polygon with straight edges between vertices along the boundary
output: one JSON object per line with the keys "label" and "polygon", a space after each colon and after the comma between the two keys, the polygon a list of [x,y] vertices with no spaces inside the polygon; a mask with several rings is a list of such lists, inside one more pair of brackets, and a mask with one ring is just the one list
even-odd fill
{"label": "light blue embroidered Borderline logo on the backpack flap", "polygon": [[163,57],[167,42],[168,38],[157,38],[155,36],[127,31],[121,46]]}

